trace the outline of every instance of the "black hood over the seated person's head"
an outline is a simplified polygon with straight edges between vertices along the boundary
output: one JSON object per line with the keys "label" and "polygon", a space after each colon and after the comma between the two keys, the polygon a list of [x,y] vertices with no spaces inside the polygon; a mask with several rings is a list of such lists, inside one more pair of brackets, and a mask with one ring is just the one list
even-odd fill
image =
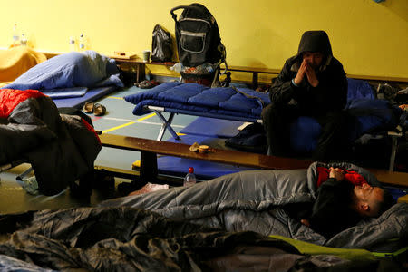
{"label": "black hood over the seated person's head", "polygon": [[297,54],[304,52],[320,52],[325,57],[332,56],[332,46],[328,35],[323,30],[306,31],[300,39]]}

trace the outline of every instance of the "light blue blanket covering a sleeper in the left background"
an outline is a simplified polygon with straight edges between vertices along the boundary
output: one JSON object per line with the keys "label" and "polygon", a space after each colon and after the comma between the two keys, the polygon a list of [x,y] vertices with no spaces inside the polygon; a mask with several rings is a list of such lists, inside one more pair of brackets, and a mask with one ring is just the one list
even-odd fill
{"label": "light blue blanket covering a sleeper in the left background", "polygon": [[116,62],[94,51],[63,53],[35,65],[5,89],[53,90],[73,87],[123,87]]}

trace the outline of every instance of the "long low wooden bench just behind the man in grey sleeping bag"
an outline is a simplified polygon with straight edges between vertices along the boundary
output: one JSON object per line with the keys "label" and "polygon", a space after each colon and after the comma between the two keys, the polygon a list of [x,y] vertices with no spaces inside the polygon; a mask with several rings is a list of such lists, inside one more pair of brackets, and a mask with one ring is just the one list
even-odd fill
{"label": "long low wooden bench just behind the man in grey sleeping bag", "polygon": [[[265,170],[306,169],[312,160],[298,160],[267,156],[242,151],[209,149],[208,153],[189,151],[189,145],[183,143],[156,141],[115,134],[100,135],[102,146],[128,151],[141,151],[140,179],[142,182],[157,182],[157,155],[168,155],[191,160],[208,160],[213,162],[245,166]],[[377,179],[386,185],[408,188],[408,173],[379,169],[368,169]]]}

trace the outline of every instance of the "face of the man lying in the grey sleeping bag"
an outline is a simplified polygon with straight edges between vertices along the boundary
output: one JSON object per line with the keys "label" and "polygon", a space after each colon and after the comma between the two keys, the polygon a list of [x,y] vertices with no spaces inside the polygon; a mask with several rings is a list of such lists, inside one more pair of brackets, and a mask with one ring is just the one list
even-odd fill
{"label": "face of the man lying in the grey sleeping bag", "polygon": [[368,183],[364,183],[362,186],[355,186],[355,197],[360,203],[367,203],[369,209],[365,215],[369,217],[375,217],[378,214],[379,203],[384,201],[384,189],[379,187],[372,187]]}

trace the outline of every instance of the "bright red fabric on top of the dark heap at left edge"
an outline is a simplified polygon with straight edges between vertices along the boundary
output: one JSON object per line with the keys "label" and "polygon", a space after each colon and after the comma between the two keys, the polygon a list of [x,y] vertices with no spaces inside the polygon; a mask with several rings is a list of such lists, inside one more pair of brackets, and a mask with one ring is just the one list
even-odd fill
{"label": "bright red fabric on top of the dark heap at left edge", "polygon": [[0,90],[0,118],[8,118],[20,102],[24,102],[28,98],[38,98],[41,96],[45,96],[45,94],[36,90]]}

